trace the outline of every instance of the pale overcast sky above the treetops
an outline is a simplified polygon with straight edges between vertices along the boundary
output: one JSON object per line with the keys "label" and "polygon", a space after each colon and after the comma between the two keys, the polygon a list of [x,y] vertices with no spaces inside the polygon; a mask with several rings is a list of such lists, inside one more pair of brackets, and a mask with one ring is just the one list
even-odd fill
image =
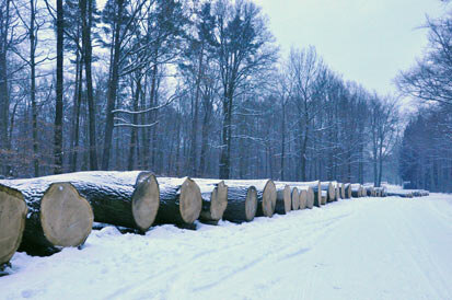
{"label": "pale overcast sky above the treetops", "polygon": [[381,94],[427,45],[426,15],[444,14],[439,0],[255,0],[282,54],[313,45],[344,79]]}

